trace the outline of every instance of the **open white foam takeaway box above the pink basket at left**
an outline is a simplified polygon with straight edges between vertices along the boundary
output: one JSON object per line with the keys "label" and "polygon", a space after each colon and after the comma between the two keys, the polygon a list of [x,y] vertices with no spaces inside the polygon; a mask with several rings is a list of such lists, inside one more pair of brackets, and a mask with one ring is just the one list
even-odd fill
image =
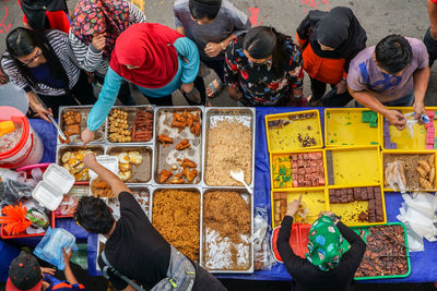
{"label": "open white foam takeaway box above the pink basket at left", "polygon": [[51,163],[43,174],[43,181],[36,184],[32,197],[42,206],[55,211],[74,184],[74,177],[64,168]]}

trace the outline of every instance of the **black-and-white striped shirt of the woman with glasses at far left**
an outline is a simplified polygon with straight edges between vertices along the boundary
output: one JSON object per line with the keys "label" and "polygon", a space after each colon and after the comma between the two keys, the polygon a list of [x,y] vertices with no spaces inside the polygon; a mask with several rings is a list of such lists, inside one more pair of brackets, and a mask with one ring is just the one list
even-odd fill
{"label": "black-and-white striped shirt of the woman with glasses at far left", "polygon": [[[71,49],[68,35],[60,31],[48,31],[46,37],[68,75],[69,87],[74,87],[81,74],[81,69],[79,68],[79,62],[74,57],[73,50]],[[3,57],[1,58],[1,68],[9,76],[12,84],[26,92],[34,90],[36,94],[48,96],[60,96],[67,94],[63,88],[55,88],[43,83],[37,83],[35,87],[32,87],[25,77],[20,73],[19,68],[8,51],[4,52]]]}

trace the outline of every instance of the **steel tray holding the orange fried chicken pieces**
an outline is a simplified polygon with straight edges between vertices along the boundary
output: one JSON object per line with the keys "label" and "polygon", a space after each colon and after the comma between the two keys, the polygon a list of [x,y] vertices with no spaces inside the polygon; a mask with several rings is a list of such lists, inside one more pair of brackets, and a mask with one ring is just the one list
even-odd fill
{"label": "steel tray holding the orange fried chicken pieces", "polygon": [[[185,128],[184,131],[178,133],[178,129],[170,128],[173,122],[173,113],[174,112],[182,112],[184,110],[196,112],[197,110],[200,111],[201,118],[201,131],[200,136],[194,136],[188,128]],[[160,183],[160,172],[163,169],[170,169],[173,165],[177,167],[176,172],[180,172],[182,170],[181,167],[178,166],[177,158],[184,159],[188,158],[194,161],[198,167],[198,175],[196,177],[192,183],[188,183],[186,181],[185,184],[200,184],[201,177],[202,177],[202,133],[203,133],[203,123],[204,123],[204,112],[202,107],[198,106],[181,106],[181,107],[157,107],[155,110],[155,157],[154,157],[154,169],[153,169],[153,181],[155,184],[161,185],[169,185],[169,186],[180,186],[181,184],[169,184],[168,180],[165,183]],[[164,147],[158,142],[158,135],[166,134],[174,140],[174,143]],[[181,142],[182,140],[189,140],[191,147],[184,150],[177,150],[176,145]],[[169,178],[172,179],[172,178]]]}

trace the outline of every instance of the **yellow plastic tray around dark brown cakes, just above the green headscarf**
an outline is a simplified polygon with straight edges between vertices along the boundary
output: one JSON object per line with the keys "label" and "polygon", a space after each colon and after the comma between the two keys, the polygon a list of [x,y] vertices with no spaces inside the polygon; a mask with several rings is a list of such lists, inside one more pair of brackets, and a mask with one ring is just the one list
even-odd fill
{"label": "yellow plastic tray around dark brown cakes, just above the green headscarf", "polygon": [[349,226],[349,227],[361,227],[361,226],[376,226],[376,225],[381,225],[387,222],[387,214],[386,214],[386,198],[383,196],[383,191],[382,186],[379,184],[368,184],[368,185],[363,185],[363,184],[356,184],[356,185],[350,185],[346,187],[363,187],[363,186],[379,186],[381,187],[381,199],[382,199],[382,211],[383,211],[383,221],[378,221],[378,222],[359,222],[358,221],[358,215],[362,211],[368,210],[368,202],[352,202],[352,203],[345,203],[345,204],[330,204],[329,203],[329,189],[344,189],[340,186],[329,186],[326,189],[324,195],[326,195],[326,201],[328,202],[328,208],[334,213],[338,216],[341,216],[341,221]]}

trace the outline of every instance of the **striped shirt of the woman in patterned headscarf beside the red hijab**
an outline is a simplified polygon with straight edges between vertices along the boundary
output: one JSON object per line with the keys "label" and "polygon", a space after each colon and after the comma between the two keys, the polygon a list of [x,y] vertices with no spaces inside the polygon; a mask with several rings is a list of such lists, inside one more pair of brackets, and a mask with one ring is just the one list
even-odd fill
{"label": "striped shirt of the woman in patterned headscarf beside the red hijab", "polygon": [[[129,2],[130,24],[145,22],[144,13],[134,4]],[[98,51],[93,44],[86,46],[70,29],[70,43],[81,69],[87,72],[97,72],[99,75],[106,75],[109,60],[103,58],[103,50]]]}

